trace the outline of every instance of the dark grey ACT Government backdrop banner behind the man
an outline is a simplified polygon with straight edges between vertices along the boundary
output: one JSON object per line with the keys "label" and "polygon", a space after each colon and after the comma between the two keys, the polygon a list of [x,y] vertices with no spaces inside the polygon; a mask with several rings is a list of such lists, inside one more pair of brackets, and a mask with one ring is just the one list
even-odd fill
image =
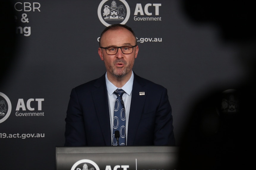
{"label": "dark grey ACT Government backdrop banner behind the man", "polygon": [[167,88],[179,145],[196,98],[244,76],[236,48],[182,2],[1,1],[0,169],[55,169],[71,89],[105,74],[99,36],[116,23],[136,34],[134,72]]}

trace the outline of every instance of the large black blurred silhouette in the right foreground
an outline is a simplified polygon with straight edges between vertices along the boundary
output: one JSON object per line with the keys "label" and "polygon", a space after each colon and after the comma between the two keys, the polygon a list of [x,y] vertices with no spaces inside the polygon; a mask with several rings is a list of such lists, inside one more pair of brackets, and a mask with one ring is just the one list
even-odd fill
{"label": "large black blurred silhouette in the right foreground", "polygon": [[246,169],[255,154],[256,27],[252,1],[182,1],[198,24],[214,23],[223,42],[239,48],[247,75],[238,84],[209,89],[192,106],[181,139],[179,169]]}

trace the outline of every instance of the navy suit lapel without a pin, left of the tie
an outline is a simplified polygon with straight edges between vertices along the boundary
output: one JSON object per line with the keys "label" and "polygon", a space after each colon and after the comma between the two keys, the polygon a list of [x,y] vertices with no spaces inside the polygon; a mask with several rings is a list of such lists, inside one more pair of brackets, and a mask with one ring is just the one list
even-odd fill
{"label": "navy suit lapel without a pin, left of the tie", "polygon": [[108,108],[108,94],[106,88],[105,74],[100,77],[94,84],[97,88],[91,92],[96,114],[99,119],[99,126],[102,130],[104,136],[105,144],[107,146],[111,145],[111,131],[110,131],[110,118],[109,118],[109,108]]}

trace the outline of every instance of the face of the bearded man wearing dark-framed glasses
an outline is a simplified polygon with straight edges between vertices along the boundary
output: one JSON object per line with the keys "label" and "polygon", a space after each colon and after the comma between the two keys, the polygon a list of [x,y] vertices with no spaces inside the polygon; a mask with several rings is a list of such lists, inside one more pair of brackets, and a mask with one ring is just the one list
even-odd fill
{"label": "face of the bearded man wearing dark-framed glasses", "polygon": [[[135,46],[135,37],[132,33],[120,27],[118,30],[108,30],[101,37],[102,47],[119,47],[119,46]],[[101,60],[104,61],[108,75],[111,74],[115,77],[123,77],[131,74],[134,60],[137,58],[139,48],[133,48],[131,54],[123,54],[121,49],[115,55],[108,55],[104,48],[99,48],[98,53]]]}

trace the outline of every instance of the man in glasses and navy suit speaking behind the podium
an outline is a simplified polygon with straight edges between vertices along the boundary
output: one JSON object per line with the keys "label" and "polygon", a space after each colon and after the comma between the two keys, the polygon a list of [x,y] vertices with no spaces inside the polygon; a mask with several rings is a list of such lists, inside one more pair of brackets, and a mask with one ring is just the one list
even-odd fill
{"label": "man in glasses and navy suit speaking behind the podium", "polygon": [[[175,145],[167,90],[132,71],[139,51],[132,29],[110,25],[102,32],[99,46],[107,72],[72,89],[65,146],[119,145],[118,139],[124,140],[122,145]],[[120,105],[115,103],[120,97],[115,91],[125,92]],[[124,125],[117,130],[121,121],[116,121],[114,112],[121,103]]]}

